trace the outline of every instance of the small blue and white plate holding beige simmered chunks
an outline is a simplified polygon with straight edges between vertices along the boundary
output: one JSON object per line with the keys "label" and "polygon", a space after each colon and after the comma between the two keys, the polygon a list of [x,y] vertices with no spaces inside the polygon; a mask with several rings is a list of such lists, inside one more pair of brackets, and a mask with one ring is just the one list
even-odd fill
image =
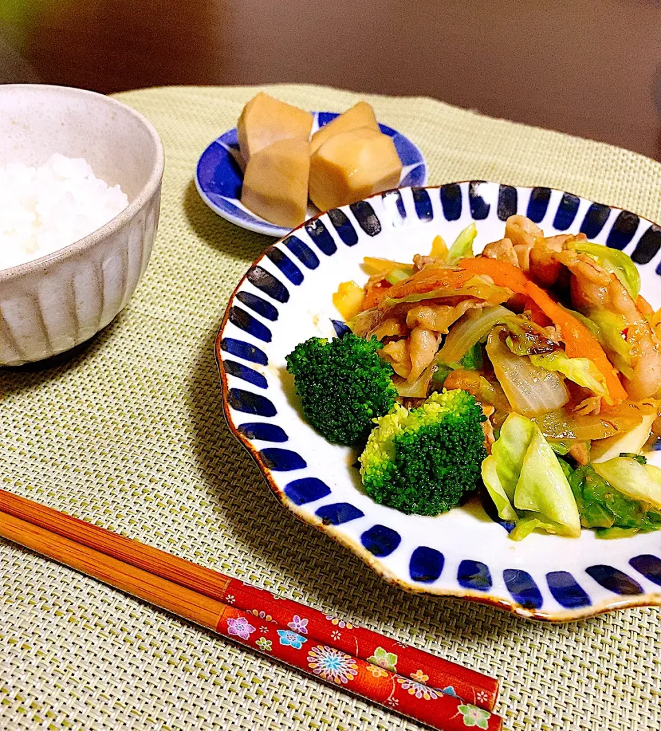
{"label": "small blue and white plate holding beige simmered chunks", "polygon": [[[338,116],[337,112],[313,112],[312,132],[328,124]],[[427,165],[420,150],[404,135],[395,129],[379,124],[381,132],[393,138],[395,148],[401,159],[402,170],[399,187],[423,186],[427,182]],[[290,230],[276,226],[249,211],[241,203],[243,172],[237,162],[238,138],[236,127],[225,132],[205,149],[197,162],[195,186],[202,200],[227,221],[237,226],[281,238]],[[314,205],[308,208],[308,215],[319,213]]]}

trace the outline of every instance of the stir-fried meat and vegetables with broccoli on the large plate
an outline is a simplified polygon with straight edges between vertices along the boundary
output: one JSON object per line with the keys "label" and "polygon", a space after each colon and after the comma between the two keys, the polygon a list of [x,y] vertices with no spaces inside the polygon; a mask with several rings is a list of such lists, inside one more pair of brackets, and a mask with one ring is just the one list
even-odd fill
{"label": "stir-fried meat and vegetables with broccoli on the large plate", "polygon": [[439,515],[475,491],[521,539],[661,529],[661,310],[586,236],[511,216],[412,262],[366,257],[333,296],[349,330],[287,357],[306,420],[360,450],[375,501]]}

